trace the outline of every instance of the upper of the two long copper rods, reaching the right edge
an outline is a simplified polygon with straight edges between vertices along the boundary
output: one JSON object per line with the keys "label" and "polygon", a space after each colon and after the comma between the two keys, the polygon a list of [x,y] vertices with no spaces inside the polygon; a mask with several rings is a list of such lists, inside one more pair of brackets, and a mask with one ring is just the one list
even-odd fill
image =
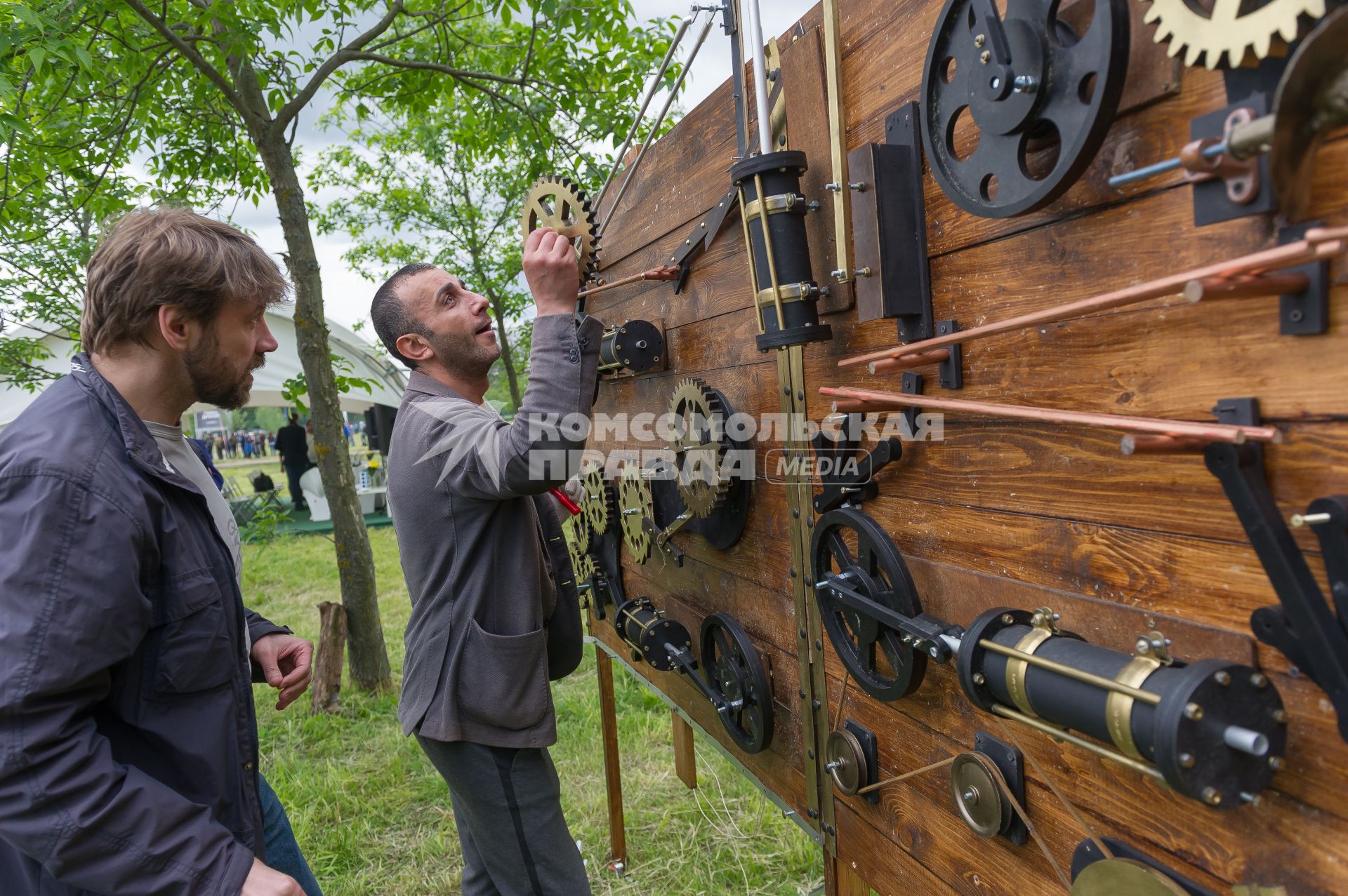
{"label": "upper of the two long copper rods, reaching the right edge", "polygon": [[1341,252],[1343,243],[1340,240],[1343,238],[1348,238],[1348,228],[1313,228],[1306,232],[1306,237],[1304,240],[1297,240],[1295,243],[1274,247],[1262,252],[1254,252],[1239,259],[1228,259],[1227,261],[1209,264],[1206,267],[1194,268],[1182,274],[1171,274],[1170,276],[1161,278],[1159,280],[1150,280],[1147,283],[1139,283],[1123,290],[1103,292],[1086,299],[1068,302],[1066,305],[1055,305],[1051,309],[1043,309],[1042,311],[1020,314],[1014,318],[1007,318],[1006,321],[984,323],[983,326],[969,327],[968,330],[957,330],[954,333],[948,333],[930,340],[921,340],[918,342],[909,342],[907,345],[899,345],[891,349],[857,354],[856,357],[842,358],[838,361],[838,366],[853,366],[857,364],[869,364],[871,361],[895,358],[903,354],[930,352],[931,349],[957,345],[960,342],[968,342],[985,335],[1023,330],[1026,327],[1039,326],[1041,323],[1055,323],[1058,321],[1084,317],[1092,311],[1105,311],[1108,309],[1117,309],[1126,305],[1136,305],[1138,302],[1159,299],[1165,295],[1174,295],[1184,291],[1184,287],[1190,280],[1229,278],[1237,274],[1260,274],[1263,271],[1277,271],[1279,268],[1295,267],[1298,264],[1305,264],[1308,261],[1314,261],[1317,259]]}

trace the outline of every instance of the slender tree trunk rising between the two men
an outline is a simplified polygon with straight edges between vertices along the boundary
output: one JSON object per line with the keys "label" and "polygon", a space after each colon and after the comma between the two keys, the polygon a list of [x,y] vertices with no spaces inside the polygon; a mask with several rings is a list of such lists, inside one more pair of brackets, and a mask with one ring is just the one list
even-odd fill
{"label": "slender tree trunk rising between the two men", "polygon": [[341,602],[346,608],[350,636],[350,680],[361,690],[388,690],[392,687],[392,676],[388,671],[384,631],[379,624],[375,556],[369,548],[360,500],[356,497],[346,437],[342,434],[341,404],[328,348],[322,279],[309,230],[305,193],[284,137],[262,127],[249,131],[271,179],[280,229],[286,236],[286,265],[295,284],[295,338],[309,385],[318,472],[332,508]]}

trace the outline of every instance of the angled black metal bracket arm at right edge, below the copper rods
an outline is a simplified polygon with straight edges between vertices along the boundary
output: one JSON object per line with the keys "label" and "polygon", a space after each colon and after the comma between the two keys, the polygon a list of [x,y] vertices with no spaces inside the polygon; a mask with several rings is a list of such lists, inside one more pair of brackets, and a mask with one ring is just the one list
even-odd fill
{"label": "angled black metal bracket arm at right edge, below the copper rods", "polygon": [[[1221,423],[1256,426],[1255,399],[1224,399],[1213,408]],[[1255,637],[1278,648],[1297,668],[1320,684],[1339,713],[1339,734],[1348,741],[1348,497],[1312,503],[1312,530],[1320,538],[1330,589],[1340,610],[1329,609],[1320,583],[1291,536],[1264,476],[1262,445],[1213,442],[1204,457],[1221,482],[1231,507],[1263,563],[1278,594],[1278,606],[1263,606],[1250,617]]]}

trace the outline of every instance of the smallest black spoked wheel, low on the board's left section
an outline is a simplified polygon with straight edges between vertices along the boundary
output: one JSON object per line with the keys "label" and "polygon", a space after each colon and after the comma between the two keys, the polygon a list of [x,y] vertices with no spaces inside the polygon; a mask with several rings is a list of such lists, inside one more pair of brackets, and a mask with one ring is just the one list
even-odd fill
{"label": "smallest black spoked wheel, low on the board's left section", "polygon": [[702,620],[702,670],[706,684],[725,701],[721,725],[745,753],[772,741],[772,686],[744,628],[727,613]]}

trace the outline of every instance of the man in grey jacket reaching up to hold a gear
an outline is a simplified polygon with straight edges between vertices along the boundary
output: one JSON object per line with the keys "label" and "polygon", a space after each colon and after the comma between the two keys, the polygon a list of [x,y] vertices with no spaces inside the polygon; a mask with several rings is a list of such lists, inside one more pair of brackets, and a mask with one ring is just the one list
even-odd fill
{"label": "man in grey jacket reaching up to hold a gear", "polygon": [[[554,618],[547,492],[585,446],[601,327],[574,322],[580,278],[563,237],[532,232],[523,263],[538,319],[512,423],[484,406],[500,356],[487,299],[414,264],[371,307],[380,340],[412,368],[388,455],[412,601],[399,718],[449,784],[465,896],[584,896],[547,755],[547,629],[573,622]],[[578,614],[574,604],[568,613]]]}

